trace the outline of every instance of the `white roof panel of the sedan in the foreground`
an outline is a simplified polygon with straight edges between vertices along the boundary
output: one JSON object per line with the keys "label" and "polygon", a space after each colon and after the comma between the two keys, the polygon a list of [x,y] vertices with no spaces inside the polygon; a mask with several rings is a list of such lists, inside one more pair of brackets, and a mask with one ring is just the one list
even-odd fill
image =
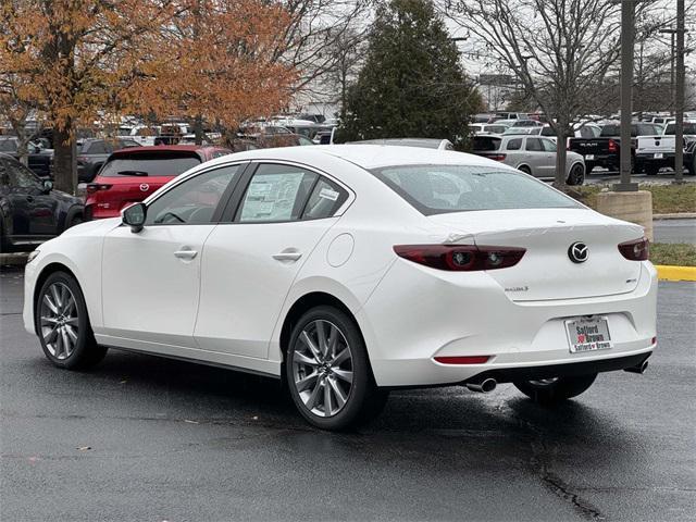
{"label": "white roof panel of the sedan in the foreground", "polygon": [[348,161],[365,170],[378,169],[390,165],[506,165],[478,156],[452,150],[425,149],[418,147],[402,147],[396,145],[314,145],[304,147],[282,147],[271,149],[257,149],[216,158],[207,165],[227,163],[231,160],[285,160],[299,163],[312,163],[312,160],[321,160],[333,157]]}

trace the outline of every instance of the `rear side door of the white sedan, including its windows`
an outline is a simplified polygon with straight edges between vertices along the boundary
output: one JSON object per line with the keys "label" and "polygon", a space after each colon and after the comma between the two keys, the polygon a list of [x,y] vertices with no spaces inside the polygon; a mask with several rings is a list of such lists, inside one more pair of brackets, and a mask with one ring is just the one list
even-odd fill
{"label": "rear side door of the white sedan, including its windows", "polygon": [[206,241],[195,336],[204,350],[266,359],[287,293],[348,192],[281,163],[259,164],[245,185]]}

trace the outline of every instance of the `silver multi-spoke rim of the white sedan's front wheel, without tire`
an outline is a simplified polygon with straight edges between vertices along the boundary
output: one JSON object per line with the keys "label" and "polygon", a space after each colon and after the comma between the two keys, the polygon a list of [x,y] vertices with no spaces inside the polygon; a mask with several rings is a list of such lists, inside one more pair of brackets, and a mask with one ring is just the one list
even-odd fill
{"label": "silver multi-spoke rim of the white sedan's front wheel, without tire", "polygon": [[79,326],[75,296],[64,283],[53,283],[41,296],[39,325],[51,356],[67,359],[77,346]]}

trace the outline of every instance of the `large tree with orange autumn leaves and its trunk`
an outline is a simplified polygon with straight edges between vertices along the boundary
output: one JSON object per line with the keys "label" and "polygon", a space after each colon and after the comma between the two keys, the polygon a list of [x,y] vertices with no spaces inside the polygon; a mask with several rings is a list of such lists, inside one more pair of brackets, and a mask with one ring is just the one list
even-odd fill
{"label": "large tree with orange autumn leaves and its trunk", "polygon": [[121,114],[234,125],[287,102],[289,17],[268,0],[3,0],[0,75],[53,126],[55,187],[74,192],[76,129]]}

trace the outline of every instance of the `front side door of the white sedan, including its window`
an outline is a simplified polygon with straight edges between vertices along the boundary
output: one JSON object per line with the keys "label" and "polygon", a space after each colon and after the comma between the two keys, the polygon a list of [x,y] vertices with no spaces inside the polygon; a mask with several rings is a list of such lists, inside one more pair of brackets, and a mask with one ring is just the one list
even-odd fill
{"label": "front side door of the white sedan, including its window", "polygon": [[203,244],[239,166],[203,172],[148,204],[145,227],[120,226],[104,238],[102,309],[105,335],[195,348]]}

